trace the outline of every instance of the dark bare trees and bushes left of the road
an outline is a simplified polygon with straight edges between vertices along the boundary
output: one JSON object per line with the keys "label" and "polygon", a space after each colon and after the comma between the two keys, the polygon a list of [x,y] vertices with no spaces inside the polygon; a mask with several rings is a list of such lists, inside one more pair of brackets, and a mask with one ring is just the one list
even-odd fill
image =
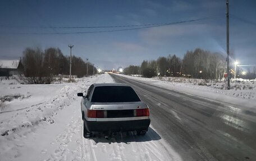
{"label": "dark bare trees and bushes left of the road", "polygon": [[[49,84],[56,75],[69,75],[70,57],[63,56],[59,48],[26,48],[23,52],[22,65],[24,75],[30,83]],[[86,63],[80,57],[72,56],[72,75],[86,75]],[[88,62],[88,75],[93,74],[93,65]],[[96,71],[96,68],[94,68]]]}

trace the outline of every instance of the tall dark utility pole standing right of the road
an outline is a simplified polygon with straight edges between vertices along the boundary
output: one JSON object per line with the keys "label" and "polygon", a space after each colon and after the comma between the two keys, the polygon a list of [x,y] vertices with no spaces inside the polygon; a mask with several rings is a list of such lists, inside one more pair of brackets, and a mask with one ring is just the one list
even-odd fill
{"label": "tall dark utility pole standing right of the road", "polygon": [[228,13],[228,0],[226,0],[227,5],[227,89],[230,90],[230,65],[229,65],[229,13]]}

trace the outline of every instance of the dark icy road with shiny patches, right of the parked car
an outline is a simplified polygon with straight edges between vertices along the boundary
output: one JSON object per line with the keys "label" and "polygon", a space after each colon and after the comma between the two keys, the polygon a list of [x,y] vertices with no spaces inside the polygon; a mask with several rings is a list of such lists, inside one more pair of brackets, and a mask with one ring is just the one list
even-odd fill
{"label": "dark icy road with shiny patches, right of the parked car", "polygon": [[256,160],[255,99],[140,77],[111,76],[131,85],[148,104],[150,125],[182,160]]}

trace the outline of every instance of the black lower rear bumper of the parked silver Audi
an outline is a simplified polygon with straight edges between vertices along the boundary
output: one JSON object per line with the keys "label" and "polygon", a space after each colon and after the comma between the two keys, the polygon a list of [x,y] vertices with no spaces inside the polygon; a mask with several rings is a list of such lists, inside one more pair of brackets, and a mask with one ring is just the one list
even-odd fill
{"label": "black lower rear bumper of the parked silver Audi", "polygon": [[87,121],[84,119],[84,124],[89,132],[148,131],[150,119],[132,121]]}

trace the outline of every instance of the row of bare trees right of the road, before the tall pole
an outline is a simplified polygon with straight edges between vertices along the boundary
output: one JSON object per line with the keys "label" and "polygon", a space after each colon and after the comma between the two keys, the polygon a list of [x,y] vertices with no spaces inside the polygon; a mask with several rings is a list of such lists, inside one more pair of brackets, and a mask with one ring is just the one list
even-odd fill
{"label": "row of bare trees right of the road, before the tall pole", "polygon": [[127,75],[142,74],[152,76],[185,76],[202,79],[221,79],[226,72],[226,59],[220,53],[195,49],[185,53],[183,59],[176,55],[159,57],[153,61],[143,61],[140,66],[125,68]]}

